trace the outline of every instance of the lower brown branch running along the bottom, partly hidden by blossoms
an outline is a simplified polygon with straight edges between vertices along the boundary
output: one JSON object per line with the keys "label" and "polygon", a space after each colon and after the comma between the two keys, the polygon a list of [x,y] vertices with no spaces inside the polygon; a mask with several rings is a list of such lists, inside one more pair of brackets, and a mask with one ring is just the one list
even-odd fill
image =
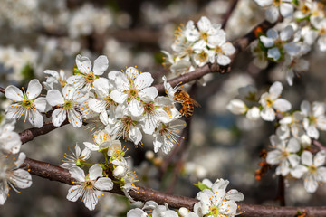
{"label": "lower brown branch running along the bottom, partly hidden by blossoms", "polygon": [[[75,181],[69,171],[62,167],[51,165],[46,162],[36,161],[31,158],[26,158],[22,165],[32,175],[38,175],[40,177],[61,182],[63,184],[72,185]],[[120,186],[114,185],[114,188],[110,193],[117,193],[123,195],[120,190]],[[168,203],[170,208],[186,207],[192,210],[197,199],[173,195],[170,193],[161,193],[149,188],[137,186],[137,189],[129,191],[130,196],[136,201],[155,201],[158,204]],[[326,207],[278,207],[278,206],[263,206],[263,205],[252,205],[241,203],[238,205],[238,212],[244,212],[241,216],[252,216],[252,217],[269,217],[269,216],[296,216],[297,212],[301,211],[306,213],[306,216],[326,216]]]}

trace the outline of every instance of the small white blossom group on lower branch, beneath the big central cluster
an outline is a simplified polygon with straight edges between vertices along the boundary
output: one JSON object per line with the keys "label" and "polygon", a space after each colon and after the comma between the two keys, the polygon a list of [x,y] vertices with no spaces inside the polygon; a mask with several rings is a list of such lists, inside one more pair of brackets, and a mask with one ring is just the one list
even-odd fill
{"label": "small white blossom group on lower branch, beneath the big central cluster", "polygon": [[[109,175],[113,175],[116,184],[120,184],[121,190],[129,196],[129,190],[134,188],[136,175],[130,171],[127,160],[124,158],[125,150],[121,146],[120,140],[101,130],[94,134],[93,143],[84,142],[84,149],[76,144],[71,155],[65,155],[62,160],[63,168],[69,170],[72,178],[76,180],[67,194],[67,199],[76,202],[82,198],[82,202],[89,210],[94,210],[98,203],[98,198],[104,191],[113,188],[113,182]],[[105,156],[105,161],[101,164],[91,164],[87,160],[91,157],[91,152],[101,152]],[[85,175],[82,167],[91,165],[89,174]]]}

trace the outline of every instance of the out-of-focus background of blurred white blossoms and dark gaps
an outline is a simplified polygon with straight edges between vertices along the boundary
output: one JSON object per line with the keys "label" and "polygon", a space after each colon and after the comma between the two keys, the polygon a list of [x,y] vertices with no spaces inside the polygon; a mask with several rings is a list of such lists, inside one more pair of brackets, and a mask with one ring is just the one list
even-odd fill
{"label": "out-of-focus background of blurred white blossoms and dark gaps", "polygon": [[[45,70],[64,70],[72,75],[77,54],[91,61],[99,55],[108,56],[109,71],[135,66],[149,71],[155,82],[168,68],[162,66],[162,50],[171,52],[174,33],[179,24],[206,15],[212,23],[223,23],[233,1],[227,0],[0,0],[0,86],[14,84],[26,87],[29,80],[46,79]],[[264,11],[253,0],[239,0],[225,31],[232,41],[251,30],[264,19]],[[310,70],[295,78],[293,87],[285,82],[285,73],[277,64],[259,70],[252,63],[250,49],[235,58],[232,70],[212,74],[206,86],[196,85],[191,96],[201,108],[195,109],[191,120],[189,142],[177,146],[175,156],[163,153],[153,156],[152,141],[129,148],[130,165],[139,177],[139,185],[159,191],[195,197],[193,185],[203,178],[230,181],[229,188],[245,194],[245,203],[279,204],[278,177],[273,169],[260,181],[255,180],[260,152],[269,148],[273,124],[252,122],[235,117],[226,104],[234,99],[238,88],[252,84],[261,92],[268,90],[274,80],[283,82],[283,98],[299,108],[302,99],[325,101],[325,54],[313,48],[306,59]],[[1,95],[1,112],[9,105]],[[31,127],[19,121],[17,131]],[[321,143],[326,143],[321,133]],[[85,128],[61,127],[22,146],[28,157],[60,165],[65,152],[76,143],[91,141]],[[96,159],[96,155],[92,156]],[[95,160],[94,160],[95,161]],[[164,162],[170,162],[162,169]],[[33,176],[32,187],[21,194],[11,192],[0,216],[126,216],[129,202],[121,196],[106,193],[95,211],[90,212],[79,201],[65,199],[68,185]],[[302,180],[285,184],[287,205],[324,205],[326,188],[306,193]]]}

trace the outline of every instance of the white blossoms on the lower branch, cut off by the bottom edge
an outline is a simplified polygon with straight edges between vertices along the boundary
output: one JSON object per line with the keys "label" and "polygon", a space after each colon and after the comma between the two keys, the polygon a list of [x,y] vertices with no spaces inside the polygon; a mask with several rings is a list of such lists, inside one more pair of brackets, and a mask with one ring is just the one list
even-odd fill
{"label": "white blossoms on the lower branch, cut off by the bottom edge", "polygon": [[[145,217],[145,216],[161,216],[161,217],[204,217],[204,216],[235,216],[238,213],[235,202],[243,201],[243,193],[239,193],[235,189],[226,192],[229,184],[227,180],[217,179],[213,184],[208,179],[204,179],[197,186],[201,192],[197,193],[198,203],[194,205],[194,212],[181,207],[178,211],[168,209],[168,205],[158,205],[153,201],[145,203],[142,209],[132,209],[127,213],[127,217]],[[149,213],[151,215],[149,215]]]}

